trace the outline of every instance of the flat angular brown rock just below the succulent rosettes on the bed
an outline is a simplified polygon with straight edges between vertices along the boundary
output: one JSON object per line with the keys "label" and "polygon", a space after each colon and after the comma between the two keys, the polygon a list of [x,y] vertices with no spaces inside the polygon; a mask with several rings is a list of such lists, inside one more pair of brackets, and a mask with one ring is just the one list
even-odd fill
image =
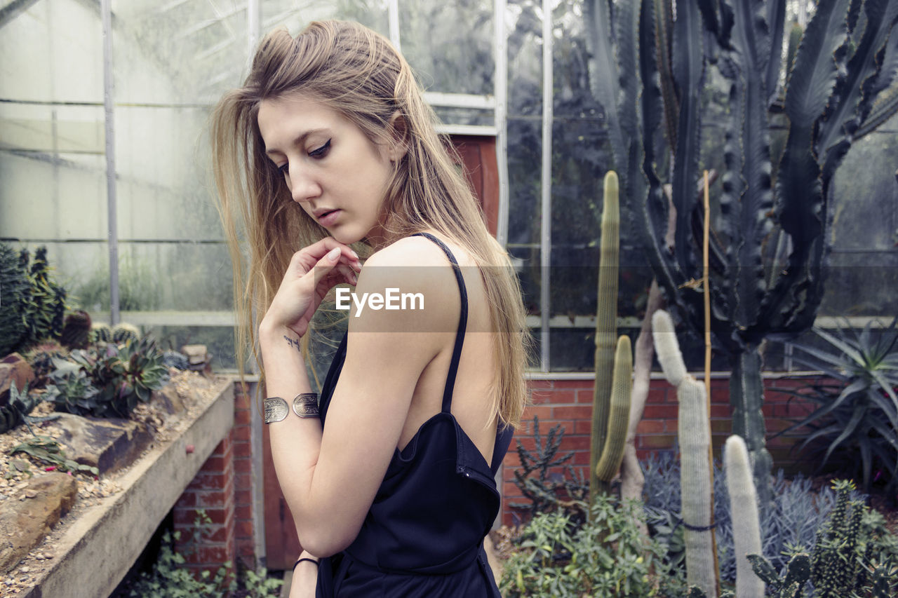
{"label": "flat angular brown rock just below the succulent rosettes on the bed", "polygon": [[61,413],[58,441],[66,445],[72,461],[109,473],[133,462],[153,436],[143,424],[119,418],[83,418]]}

